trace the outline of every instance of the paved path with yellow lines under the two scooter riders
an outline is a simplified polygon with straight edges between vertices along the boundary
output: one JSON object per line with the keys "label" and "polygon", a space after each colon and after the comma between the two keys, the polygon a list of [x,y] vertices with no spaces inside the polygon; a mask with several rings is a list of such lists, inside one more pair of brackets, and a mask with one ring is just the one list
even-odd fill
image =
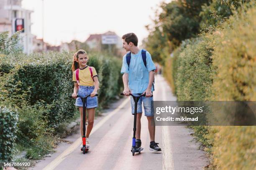
{"label": "paved path with yellow lines under the two scooter riders", "polygon": [[[176,100],[164,78],[156,76],[154,100]],[[208,164],[198,145],[191,142],[190,130],[184,126],[157,126],[156,142],[163,151],[149,150],[146,117],[142,117],[141,141],[144,150],[132,156],[133,116],[130,100],[124,97],[95,120],[90,135],[90,151],[79,149],[79,130],[61,143],[56,153],[41,160],[31,170],[200,170]]]}

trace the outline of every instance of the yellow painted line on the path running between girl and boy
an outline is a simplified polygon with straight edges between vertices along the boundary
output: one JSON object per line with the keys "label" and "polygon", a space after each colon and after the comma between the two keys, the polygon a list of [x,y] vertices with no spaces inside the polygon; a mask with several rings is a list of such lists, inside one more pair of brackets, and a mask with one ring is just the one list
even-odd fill
{"label": "yellow painted line on the path running between girl and boy", "polygon": [[[113,115],[115,115],[121,108],[123,108],[127,102],[130,101],[130,97],[127,97],[115,110],[113,110],[111,113],[109,113],[106,117],[104,117],[100,122],[98,122],[95,127],[93,127],[92,132],[90,135],[92,135],[96,130],[98,130],[107,120],[110,119]],[[72,153],[81,143],[81,138],[78,138],[69,148],[64,150],[63,153],[61,153],[57,158],[55,158],[51,163],[49,163],[43,170],[53,170],[58,166],[67,156]]]}

